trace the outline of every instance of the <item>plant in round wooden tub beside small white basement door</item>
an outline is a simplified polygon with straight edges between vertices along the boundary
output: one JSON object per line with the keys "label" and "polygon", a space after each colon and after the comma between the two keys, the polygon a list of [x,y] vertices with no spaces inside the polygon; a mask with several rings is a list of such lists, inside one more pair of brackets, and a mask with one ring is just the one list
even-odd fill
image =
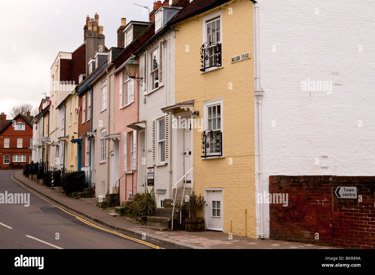
{"label": "plant in round wooden tub beside small white basement door", "polygon": [[199,195],[193,195],[189,200],[189,219],[185,219],[185,230],[186,231],[204,231],[204,218],[198,216],[198,213],[205,206],[206,201],[204,197]]}

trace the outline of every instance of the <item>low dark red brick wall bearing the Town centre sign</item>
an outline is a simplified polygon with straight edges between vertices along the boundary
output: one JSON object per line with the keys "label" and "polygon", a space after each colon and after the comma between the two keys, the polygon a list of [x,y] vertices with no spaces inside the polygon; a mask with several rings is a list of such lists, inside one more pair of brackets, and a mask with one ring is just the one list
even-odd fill
{"label": "low dark red brick wall bearing the Town centre sign", "polygon": [[[345,248],[375,248],[375,176],[270,176],[270,238]],[[337,186],[357,186],[359,199],[338,199]],[[315,239],[319,233],[319,239]]]}

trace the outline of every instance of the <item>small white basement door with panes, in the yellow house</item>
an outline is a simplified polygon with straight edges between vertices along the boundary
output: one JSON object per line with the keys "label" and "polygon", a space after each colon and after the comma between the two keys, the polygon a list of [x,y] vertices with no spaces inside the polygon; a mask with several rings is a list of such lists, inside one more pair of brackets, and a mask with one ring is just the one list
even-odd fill
{"label": "small white basement door with panes, in the yellow house", "polygon": [[206,229],[223,231],[223,190],[205,189],[204,192],[207,204],[204,211]]}

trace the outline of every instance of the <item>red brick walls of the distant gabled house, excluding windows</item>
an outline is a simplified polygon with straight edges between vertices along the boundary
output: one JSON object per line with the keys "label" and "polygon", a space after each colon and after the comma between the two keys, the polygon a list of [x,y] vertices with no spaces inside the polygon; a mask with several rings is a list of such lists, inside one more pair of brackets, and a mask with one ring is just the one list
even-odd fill
{"label": "red brick walls of the distant gabled house, excluding windows", "polygon": [[[25,123],[22,117],[16,119],[17,122]],[[4,148],[4,138],[9,138],[9,148]],[[17,148],[17,138],[22,138],[22,148]],[[26,162],[17,162],[21,165],[29,163],[29,158],[31,155],[30,139],[33,138],[33,128],[27,123],[25,124],[25,131],[14,131],[13,123],[11,123],[7,128],[5,128],[0,133],[0,169],[20,169],[20,167],[11,167],[9,164],[4,164],[4,155],[9,155],[9,163],[13,162],[13,155],[26,155]]]}

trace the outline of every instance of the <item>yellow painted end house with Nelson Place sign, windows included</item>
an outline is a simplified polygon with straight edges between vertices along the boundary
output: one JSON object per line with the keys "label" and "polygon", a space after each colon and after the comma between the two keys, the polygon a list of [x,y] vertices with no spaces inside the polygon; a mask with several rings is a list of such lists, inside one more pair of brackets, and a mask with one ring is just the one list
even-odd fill
{"label": "yellow painted end house with Nelson Place sign, windows included", "polygon": [[199,168],[193,187],[206,200],[205,228],[256,237],[254,3],[208,2],[176,15],[175,102],[197,115],[188,155]]}

